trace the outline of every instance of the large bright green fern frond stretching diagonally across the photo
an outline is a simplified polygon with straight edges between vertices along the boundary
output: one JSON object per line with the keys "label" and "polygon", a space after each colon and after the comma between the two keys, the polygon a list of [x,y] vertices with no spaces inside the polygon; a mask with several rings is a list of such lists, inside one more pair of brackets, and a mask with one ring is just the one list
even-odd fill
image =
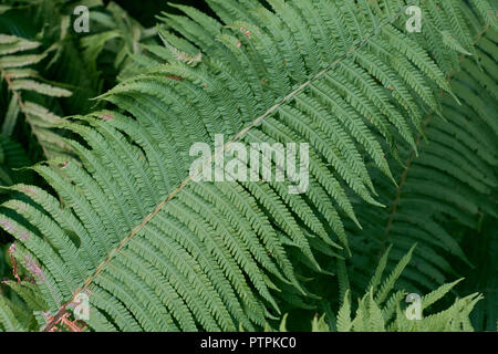
{"label": "large bright green fern frond stretching diagonally across the photo", "polygon": [[[313,274],[330,274],[314,248],[356,251],[343,221],[364,220],[390,205],[381,201],[386,198],[377,187],[384,186],[372,176],[396,176],[384,160],[386,145],[402,153],[407,146],[419,148],[414,134],[424,131],[422,112],[439,111],[434,98],[439,90],[465,108],[486,111],[476,95],[461,94],[468,91],[465,85],[449,85],[430,48],[400,29],[404,8],[394,9],[391,1],[369,7],[270,0],[271,9],[258,1],[207,2],[221,22],[187,8],[181,8],[185,17],[167,15],[165,21],[183,39],[162,32],[166,51],[153,46],[152,52],[163,62],[144,60],[147,70],[100,97],[113,103],[114,111],[75,116],[60,126],[76,135],[65,143],[80,162],[59,157],[32,169],[62,204],[39,188],[18,185],[12,189],[29,202],[2,206],[0,225],[19,244],[13,256],[46,301],[43,330],[66,316],[81,292],[90,296],[86,324],[92,330],[262,329],[267,319],[280,315],[276,289],[288,289],[286,296],[304,305],[302,299],[319,299],[298,270],[305,264]],[[450,24],[466,45],[476,33],[460,6],[442,11],[457,14]],[[330,7],[336,12],[328,13]],[[328,20],[321,22],[323,18]],[[338,27],[343,38],[329,38]],[[393,52],[397,58],[388,55]],[[11,59],[11,65],[19,62]],[[483,121],[492,126],[490,118]],[[218,134],[230,135],[224,152],[235,142],[309,144],[307,194],[291,192],[290,181],[266,183],[264,170],[258,170],[257,183],[193,181],[189,147]],[[442,164],[439,170],[453,174],[461,160],[445,162],[448,148],[439,145],[419,165]],[[208,163],[216,171],[220,166],[214,160]],[[468,174],[458,174],[457,186],[490,192],[492,181],[464,169]],[[359,201],[371,208],[365,216],[353,210]],[[402,217],[395,215],[393,222]],[[429,231],[433,243],[465,259],[436,221],[416,216],[413,223],[421,228],[396,229],[407,236],[403,246],[413,238],[429,241],[424,233]],[[398,257],[401,247],[393,243],[390,257]],[[353,330],[388,329],[383,321],[393,301],[385,311],[382,304],[412,251],[375,296],[370,291],[360,300]],[[345,268],[341,259],[339,264]],[[340,269],[341,299],[346,299],[344,274]],[[452,308],[458,314],[452,325],[460,325],[476,300]],[[427,326],[433,322],[439,325],[428,319]]]}

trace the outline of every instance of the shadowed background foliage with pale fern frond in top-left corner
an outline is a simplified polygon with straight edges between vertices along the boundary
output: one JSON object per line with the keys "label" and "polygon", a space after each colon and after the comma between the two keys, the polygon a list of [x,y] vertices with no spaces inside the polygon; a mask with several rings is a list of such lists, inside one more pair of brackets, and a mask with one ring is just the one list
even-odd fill
{"label": "shadowed background foliage with pale fern frond in top-left corner", "polygon": [[[22,143],[27,155],[34,162],[69,154],[71,148],[62,142],[61,132],[56,129],[62,122],[60,116],[90,111],[93,105],[90,98],[101,93],[104,84],[114,85],[116,82],[115,77],[105,82],[107,76],[103,79],[98,74],[98,70],[107,69],[105,60],[97,60],[101,51],[111,46],[118,62],[126,62],[132,52],[129,48],[138,45],[136,42],[145,30],[129,20],[114,2],[108,3],[106,9],[101,0],[2,0],[2,3],[0,31],[11,33],[2,33],[0,44],[1,80],[2,88],[6,88],[1,92],[4,108],[2,136]],[[89,30],[97,34],[73,30],[72,17],[76,6],[90,9],[92,21]],[[19,23],[17,19],[20,14],[31,18],[32,22]],[[126,27],[128,22],[129,29]],[[117,45],[95,40],[105,35],[110,27],[123,39]],[[129,43],[126,41],[128,32],[135,33]],[[80,46],[83,48],[83,55],[79,53]],[[115,71],[116,75],[118,67]],[[64,97],[68,98],[58,100]],[[20,181],[13,175],[10,176],[12,178]]]}

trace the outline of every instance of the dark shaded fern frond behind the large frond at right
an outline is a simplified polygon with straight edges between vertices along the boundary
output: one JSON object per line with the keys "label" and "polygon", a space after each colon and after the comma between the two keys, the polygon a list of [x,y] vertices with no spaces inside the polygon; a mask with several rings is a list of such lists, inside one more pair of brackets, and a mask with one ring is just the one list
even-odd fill
{"label": "dark shaded fern frond behind the large frond at right", "polygon": [[[461,105],[443,95],[446,121],[428,114],[424,136],[417,138],[419,156],[408,149],[401,152],[404,166],[394,173],[397,187],[383,181],[382,176],[375,179],[381,186],[381,200],[388,208],[374,211],[359,206],[364,229],[354,238],[353,249],[359,257],[352,259],[359,271],[355,278],[359,291],[366,285],[362,274],[369,269],[366,264],[377,261],[372,254],[378,254],[378,249],[390,243],[394,243],[390,264],[395,264],[414,242],[418,243],[404,278],[405,287],[409,282],[412,290],[427,291],[448,278],[459,277],[461,267],[458,270],[454,267],[458,262],[474,268],[474,272],[480,271],[476,269],[480,266],[468,260],[470,250],[464,248],[455,233],[457,229],[477,231],[485,216],[497,217],[494,195],[498,186],[495,153],[498,102],[492,58],[498,46],[494,38],[495,32],[479,38],[474,45],[478,60],[466,58],[452,75],[452,90]],[[491,317],[496,316],[494,312],[488,312]]]}

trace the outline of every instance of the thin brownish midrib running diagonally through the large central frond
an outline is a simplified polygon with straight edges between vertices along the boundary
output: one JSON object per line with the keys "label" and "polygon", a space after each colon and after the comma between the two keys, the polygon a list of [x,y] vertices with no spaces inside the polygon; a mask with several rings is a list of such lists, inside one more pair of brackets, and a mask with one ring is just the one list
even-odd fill
{"label": "thin brownish midrib running diagonally through the large central frond", "polygon": [[234,138],[231,140],[229,140],[228,143],[226,143],[222,148],[220,148],[216,154],[211,155],[211,157],[209,159],[206,160],[206,163],[199,167],[199,169],[197,169],[197,171],[194,174],[194,176],[189,176],[188,178],[186,178],[181,185],[176,188],[175,190],[173,190],[168,197],[163,200],[159,205],[156,206],[156,208],[148,214],[143,220],[142,222],[136,226],[131,233],[124,238],[116,248],[114,248],[107,256],[107,258],[98,264],[98,267],[95,269],[95,271],[85,280],[85,282],[83,283],[83,285],[77,289],[73,296],[63,305],[61,305],[61,308],[59,309],[59,311],[56,312],[56,314],[51,317],[51,320],[49,321],[49,323],[42,329],[43,332],[49,332],[50,330],[52,330],[52,327],[64,316],[64,314],[66,313],[66,306],[70,305],[76,298],[76,295],[79,293],[81,293],[82,291],[85,291],[90,284],[93,282],[93,280],[102,272],[102,270],[104,269],[104,267],[106,264],[108,264],[113,258],[126,246],[126,243],[137,235],[137,232],[145,227],[173,198],[175,198],[175,196],[177,194],[179,194],[196,176],[198,176],[200,173],[203,173],[204,168],[206,168],[208,165],[210,165],[210,163],[218,157],[220,154],[224,154],[224,152],[230,147],[234,143],[236,143],[237,140],[240,139],[240,137],[242,137],[245,134],[247,134],[251,128],[253,128],[255,126],[257,126],[259,123],[261,123],[266,117],[268,117],[269,115],[273,114],[278,108],[280,108],[282,105],[284,105],[286,103],[290,102],[293,97],[295,97],[299,93],[301,93],[302,91],[304,91],[307,87],[309,87],[313,82],[315,82],[317,80],[319,80],[320,77],[322,77],[323,75],[325,75],[330,70],[332,70],[335,65],[338,65],[339,63],[341,63],[342,61],[344,61],[345,59],[347,59],[352,53],[356,52],[359,49],[361,49],[364,44],[367,43],[367,41],[373,38],[375,34],[380,33],[380,31],[382,30],[382,28],[384,28],[387,24],[392,24],[393,22],[395,22],[400,15],[405,11],[407,7],[403,7],[401,8],[393,17],[387,18],[384,23],[381,23],[377,28],[375,28],[371,33],[369,33],[367,35],[365,35],[363,39],[360,40],[360,42],[356,45],[351,46],[351,49],[349,49],[344,54],[342,54],[341,56],[339,56],[335,61],[333,61],[332,63],[330,63],[325,69],[323,69],[322,71],[320,71],[319,73],[314,74],[311,79],[309,79],[307,82],[304,82],[303,84],[299,85],[294,91],[292,91],[291,93],[289,93],[287,96],[284,96],[279,103],[274,104],[272,107],[270,107],[268,111],[266,111],[262,115],[260,115],[259,117],[257,117],[250,125],[248,125],[247,127],[245,127],[242,131],[240,131],[238,134],[236,134],[234,136]]}

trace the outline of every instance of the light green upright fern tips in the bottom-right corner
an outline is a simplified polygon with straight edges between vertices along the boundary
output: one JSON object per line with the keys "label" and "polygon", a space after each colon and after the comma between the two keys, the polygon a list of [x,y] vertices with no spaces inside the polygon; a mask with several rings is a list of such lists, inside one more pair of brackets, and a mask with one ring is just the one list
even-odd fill
{"label": "light green upright fern tips in the bottom-right corner", "polygon": [[[383,256],[387,258],[388,251]],[[474,327],[469,320],[469,313],[478,301],[483,299],[478,293],[457,299],[443,311],[433,314],[423,314],[422,312],[433,303],[444,298],[458,282],[444,284],[429,294],[423,296],[419,301],[421,317],[411,317],[407,315],[409,308],[402,310],[403,300],[408,294],[405,291],[393,292],[393,285],[400,277],[403,269],[411,259],[411,252],[406,254],[400,263],[396,264],[396,271],[391,273],[384,280],[380,290],[375,287],[369,288],[369,291],[357,299],[357,306],[352,316],[352,304],[349,296],[349,290],[344,295],[342,306],[339,309],[338,316],[333,319],[333,331],[336,332],[471,332]],[[377,267],[375,275],[371,283],[380,281],[384,271],[384,264]],[[386,298],[387,294],[390,296]],[[385,298],[385,300],[382,300]],[[287,331],[287,315],[282,319],[280,331]],[[315,315],[311,323],[312,332],[329,332],[330,325],[325,321],[325,315],[320,319]]]}

